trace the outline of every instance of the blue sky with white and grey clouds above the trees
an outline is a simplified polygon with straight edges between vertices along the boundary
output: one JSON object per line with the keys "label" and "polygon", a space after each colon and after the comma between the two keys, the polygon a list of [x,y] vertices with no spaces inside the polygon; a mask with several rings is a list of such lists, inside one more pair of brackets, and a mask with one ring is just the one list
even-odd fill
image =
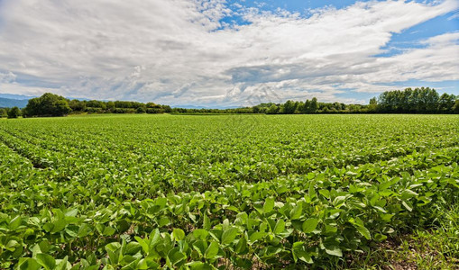
{"label": "blue sky with white and grey clouds above the trees", "polygon": [[459,94],[459,0],[0,0],[0,93],[232,107]]}

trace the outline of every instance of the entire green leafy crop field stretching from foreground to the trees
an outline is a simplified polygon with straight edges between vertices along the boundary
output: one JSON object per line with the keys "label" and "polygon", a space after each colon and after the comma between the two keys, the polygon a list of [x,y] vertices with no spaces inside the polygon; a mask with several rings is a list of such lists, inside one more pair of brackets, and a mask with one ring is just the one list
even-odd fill
{"label": "entire green leafy crop field stretching from foreground to the trees", "polygon": [[457,115],[0,120],[0,268],[343,266],[457,210],[458,162]]}

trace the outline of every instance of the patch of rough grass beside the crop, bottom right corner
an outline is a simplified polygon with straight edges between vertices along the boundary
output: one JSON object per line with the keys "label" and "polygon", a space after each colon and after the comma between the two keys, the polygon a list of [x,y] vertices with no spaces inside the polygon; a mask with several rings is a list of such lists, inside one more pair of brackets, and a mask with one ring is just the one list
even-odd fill
{"label": "patch of rough grass beside the crop, bottom right corner", "polygon": [[349,255],[340,269],[459,269],[459,203],[430,229],[388,238],[362,255]]}

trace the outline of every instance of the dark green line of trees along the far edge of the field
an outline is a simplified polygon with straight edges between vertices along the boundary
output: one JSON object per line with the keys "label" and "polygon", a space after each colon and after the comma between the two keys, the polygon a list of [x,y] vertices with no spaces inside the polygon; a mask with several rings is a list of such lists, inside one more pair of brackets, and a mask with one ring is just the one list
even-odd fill
{"label": "dark green line of trees along the far edge of the field", "polygon": [[69,100],[57,94],[46,93],[32,98],[21,111],[14,107],[0,109],[0,117],[64,116],[69,113],[459,113],[459,95],[438,94],[429,87],[386,91],[369,104],[320,103],[316,97],[306,101],[261,103],[252,107],[234,109],[186,109],[169,105],[129,101]]}

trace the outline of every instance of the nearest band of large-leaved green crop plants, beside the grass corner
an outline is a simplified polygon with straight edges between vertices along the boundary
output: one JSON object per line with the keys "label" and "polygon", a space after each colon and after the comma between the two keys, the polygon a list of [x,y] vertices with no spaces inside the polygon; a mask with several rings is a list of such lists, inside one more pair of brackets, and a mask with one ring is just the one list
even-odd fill
{"label": "nearest band of large-leaved green crop plants, beside the grass corner", "polygon": [[[170,193],[132,202],[112,197],[115,203],[104,207],[76,203],[51,211],[43,208],[32,217],[4,214],[2,256],[30,257],[19,259],[20,265],[52,265],[54,257],[65,258],[77,263],[76,269],[202,269],[222,264],[250,268],[253,261],[298,267],[342,257],[345,251],[364,251],[369,240],[381,241],[395,229],[431,221],[437,203],[453,202],[459,191],[458,151],[404,157],[387,168],[350,166],[272,182],[241,182],[205,193]],[[414,163],[435,160],[447,166],[394,176],[398,174],[393,167],[405,171]]]}

